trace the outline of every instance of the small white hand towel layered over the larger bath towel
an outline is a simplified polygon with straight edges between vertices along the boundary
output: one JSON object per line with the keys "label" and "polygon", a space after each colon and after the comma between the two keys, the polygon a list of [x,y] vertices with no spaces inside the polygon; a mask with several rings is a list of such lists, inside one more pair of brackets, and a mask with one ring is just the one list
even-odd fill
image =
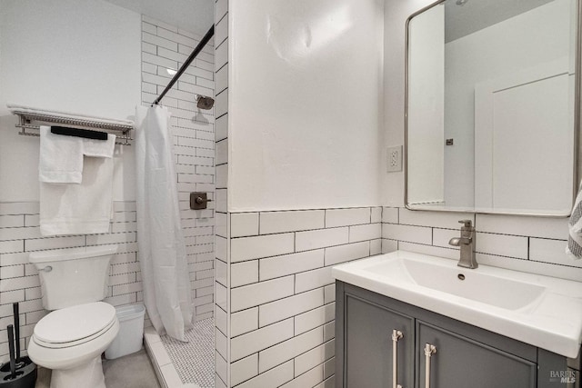
{"label": "small white hand towel layered over the larger bath towel", "polygon": [[50,129],[50,126],[40,127],[38,180],[47,183],[80,184],[84,139],[51,134]]}

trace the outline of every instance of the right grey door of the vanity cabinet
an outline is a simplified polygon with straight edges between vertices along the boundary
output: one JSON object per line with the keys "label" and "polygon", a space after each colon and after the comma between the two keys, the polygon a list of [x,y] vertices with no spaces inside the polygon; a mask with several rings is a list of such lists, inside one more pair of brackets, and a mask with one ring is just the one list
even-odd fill
{"label": "right grey door of the vanity cabinet", "polygon": [[436,347],[430,388],[535,388],[537,365],[445,329],[416,321],[416,388],[426,387],[426,343]]}

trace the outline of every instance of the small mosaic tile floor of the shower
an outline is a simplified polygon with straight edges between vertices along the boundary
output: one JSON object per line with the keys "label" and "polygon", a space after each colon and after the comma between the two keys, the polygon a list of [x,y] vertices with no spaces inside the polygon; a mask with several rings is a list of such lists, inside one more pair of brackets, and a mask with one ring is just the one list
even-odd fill
{"label": "small mosaic tile floor of the shower", "polygon": [[196,383],[200,388],[215,386],[215,320],[198,321],[186,332],[188,343],[167,335],[161,337],[182,383]]}

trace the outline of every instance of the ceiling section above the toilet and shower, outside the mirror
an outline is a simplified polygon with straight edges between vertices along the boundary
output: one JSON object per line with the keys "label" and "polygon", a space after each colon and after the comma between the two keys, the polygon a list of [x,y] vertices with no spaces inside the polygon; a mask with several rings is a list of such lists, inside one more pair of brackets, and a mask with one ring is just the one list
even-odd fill
{"label": "ceiling section above the toilet and shower, outside the mirror", "polygon": [[215,19],[215,0],[105,0],[126,9],[205,35]]}

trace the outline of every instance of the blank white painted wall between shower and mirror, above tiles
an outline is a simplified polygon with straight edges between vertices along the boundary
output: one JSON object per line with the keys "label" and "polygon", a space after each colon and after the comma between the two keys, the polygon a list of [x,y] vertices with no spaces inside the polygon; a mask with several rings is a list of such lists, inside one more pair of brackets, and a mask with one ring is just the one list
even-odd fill
{"label": "blank white painted wall between shower and mirror, above tiles", "polygon": [[383,7],[230,3],[229,211],[379,203]]}

